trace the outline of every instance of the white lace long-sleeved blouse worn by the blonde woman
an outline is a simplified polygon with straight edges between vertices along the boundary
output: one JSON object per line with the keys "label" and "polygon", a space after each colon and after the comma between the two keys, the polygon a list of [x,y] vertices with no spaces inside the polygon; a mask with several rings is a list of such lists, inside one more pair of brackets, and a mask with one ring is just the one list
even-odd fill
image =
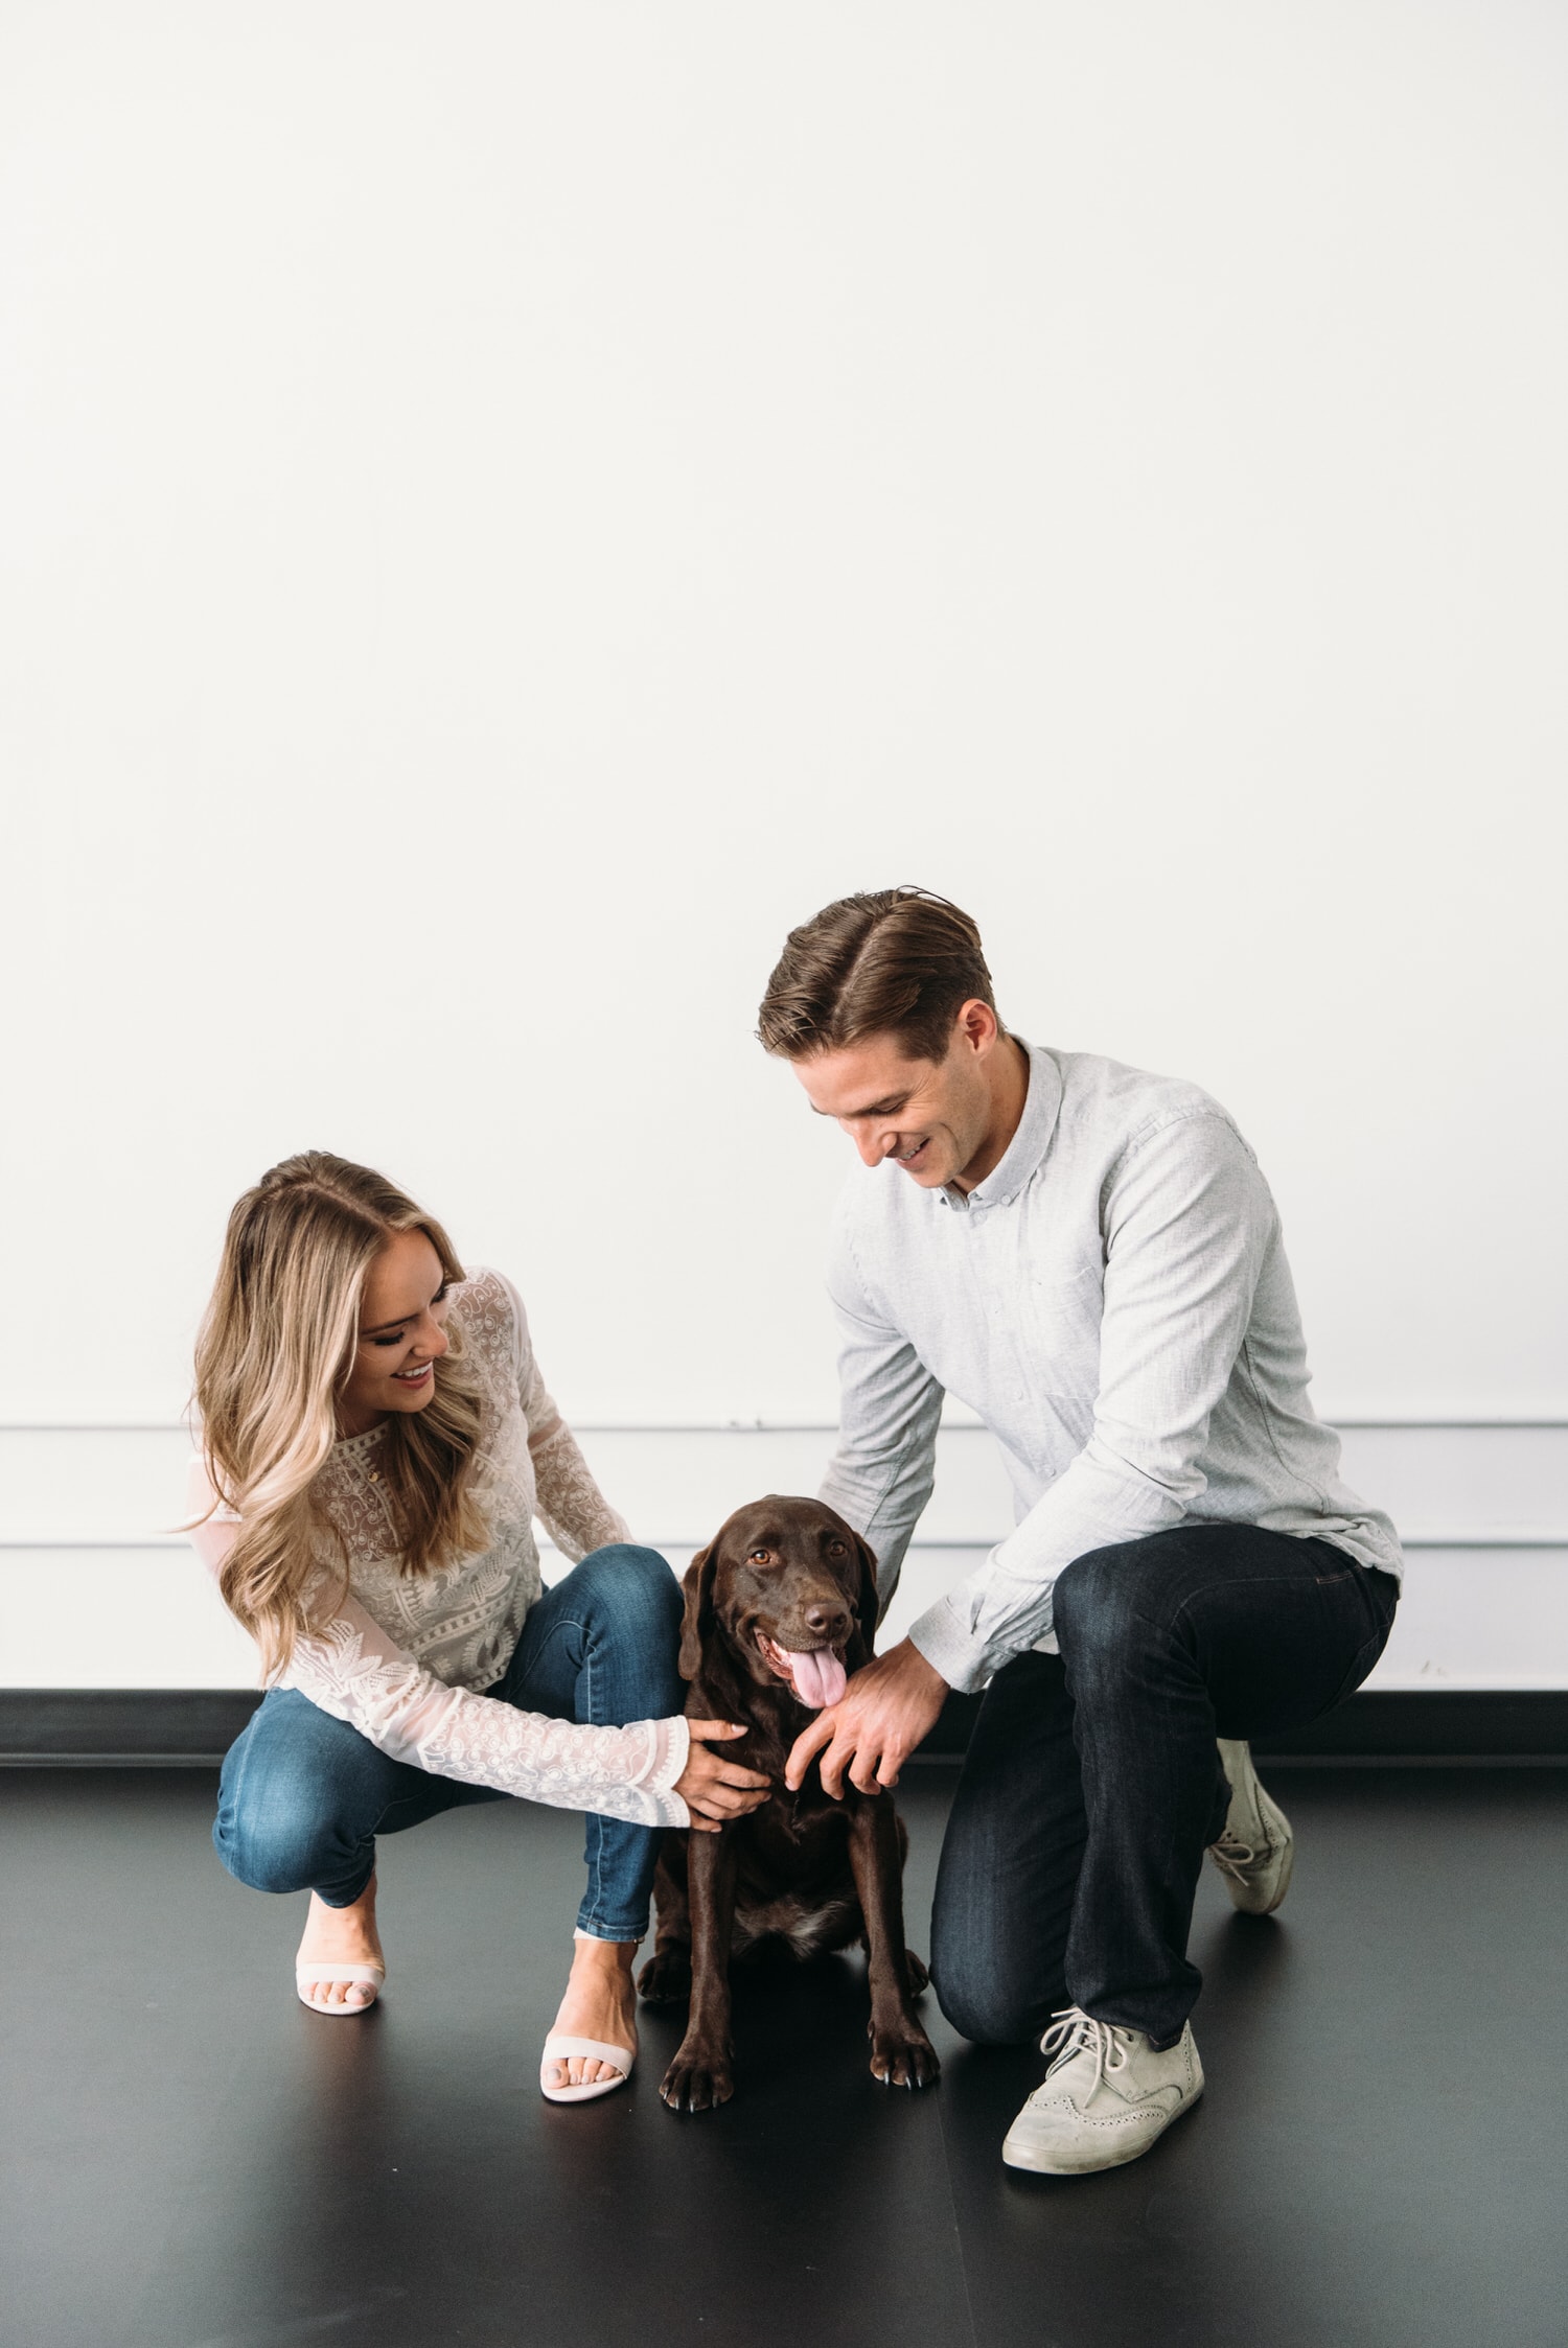
{"label": "white lace long-sleeved blouse worn by the blonde woman", "polygon": [[[535,1514],[573,1564],[624,1540],[627,1526],[545,1390],[512,1282],[477,1270],[453,1289],[451,1317],[484,1388],[477,1493],[491,1547],[401,1573],[376,1465],[385,1425],[333,1444],[315,1496],[347,1550],[347,1594],[331,1622],[296,1644],[282,1686],[434,1775],[641,1827],[685,1827],[690,1813],[674,1792],[688,1754],[683,1719],[587,1728],[481,1693],[507,1669],[542,1587]],[[211,1500],[197,1463],[190,1514]],[[214,1510],[190,1536],[214,1573],[235,1524],[232,1510]]]}

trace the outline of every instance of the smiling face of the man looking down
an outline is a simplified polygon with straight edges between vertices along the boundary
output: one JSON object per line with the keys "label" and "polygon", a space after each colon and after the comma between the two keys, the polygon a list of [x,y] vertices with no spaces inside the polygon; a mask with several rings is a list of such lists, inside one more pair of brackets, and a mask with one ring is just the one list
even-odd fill
{"label": "smiling face of the man looking down", "polygon": [[922,1190],[939,1190],[986,1146],[995,1043],[995,1012],[965,1003],[944,1059],[906,1059],[897,1035],[869,1035],[791,1066],[817,1115],[836,1118],[869,1167],[892,1158]]}

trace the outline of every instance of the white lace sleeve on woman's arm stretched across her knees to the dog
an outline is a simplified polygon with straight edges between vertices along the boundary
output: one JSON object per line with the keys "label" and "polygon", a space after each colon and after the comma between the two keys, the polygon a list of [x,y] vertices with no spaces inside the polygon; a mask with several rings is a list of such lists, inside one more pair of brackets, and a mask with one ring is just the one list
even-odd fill
{"label": "white lace sleeve on woman's arm stretched across her knees to the dog", "polygon": [[488,1784],[556,1810],[599,1810],[634,1827],[690,1824],[674,1792],[688,1754],[683,1719],[587,1728],[448,1688],[354,1599],[298,1641],[286,1686],[347,1721],[378,1752],[437,1777]]}

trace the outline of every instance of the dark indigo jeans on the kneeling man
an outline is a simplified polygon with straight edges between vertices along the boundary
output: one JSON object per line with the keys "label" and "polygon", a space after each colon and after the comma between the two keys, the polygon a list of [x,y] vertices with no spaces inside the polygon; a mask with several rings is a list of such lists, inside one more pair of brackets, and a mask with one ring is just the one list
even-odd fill
{"label": "dark indigo jeans on the kneeling man", "polygon": [[1077,1557],[1061,1655],[1016,1655],[981,1702],[937,1876],[932,1979],[967,2038],[1009,2045],[1082,2005],[1181,2038],[1221,1738],[1298,1728],[1361,1686],[1399,1585],[1326,1540],[1183,1524]]}

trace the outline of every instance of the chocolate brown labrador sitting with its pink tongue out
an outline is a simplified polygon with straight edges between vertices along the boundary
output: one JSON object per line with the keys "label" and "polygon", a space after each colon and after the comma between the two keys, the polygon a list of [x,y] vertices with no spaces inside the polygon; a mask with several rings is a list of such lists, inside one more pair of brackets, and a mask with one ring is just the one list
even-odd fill
{"label": "chocolate brown labrador sitting with its pink tongue out", "polygon": [[812,1712],[838,1702],[873,1641],[876,1559],[819,1500],[772,1493],[739,1507],[685,1573],[688,1716],[749,1721],[739,1759],[777,1789],[718,1834],[664,1836],[657,1935],[638,1989],[650,2005],[690,1991],[685,2038],[660,2090],[676,2111],[732,2097],[730,1958],[765,1939],[796,1956],[859,1939],[871,2076],[894,2087],[937,2078],[937,2050],[913,2012],[925,1965],[904,1946],[908,1834],[892,1796],[845,1782],[833,1801],[815,1761],[798,1794],[784,1789],[789,1747]]}

